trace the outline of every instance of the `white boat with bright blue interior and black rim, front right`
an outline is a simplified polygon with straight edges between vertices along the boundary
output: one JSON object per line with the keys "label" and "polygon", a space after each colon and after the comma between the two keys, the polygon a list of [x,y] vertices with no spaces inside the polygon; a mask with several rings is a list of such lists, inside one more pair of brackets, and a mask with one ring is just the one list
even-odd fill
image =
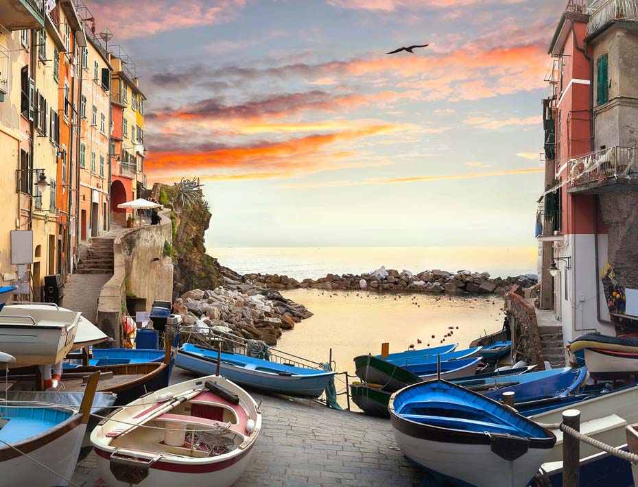
{"label": "white boat with bright blue interior and black rim, front right", "polygon": [[395,392],[388,409],[403,454],[438,482],[526,486],[556,442],[497,401],[442,380]]}

